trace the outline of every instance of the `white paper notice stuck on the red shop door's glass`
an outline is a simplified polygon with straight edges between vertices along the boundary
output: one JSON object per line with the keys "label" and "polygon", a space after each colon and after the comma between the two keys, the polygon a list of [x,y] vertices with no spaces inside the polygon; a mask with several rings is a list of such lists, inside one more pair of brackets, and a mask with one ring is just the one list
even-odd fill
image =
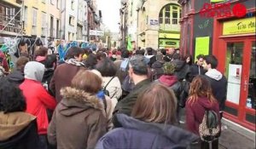
{"label": "white paper notice stuck on the red shop door's glass", "polygon": [[241,88],[241,65],[230,64],[228,75],[227,100],[239,104]]}

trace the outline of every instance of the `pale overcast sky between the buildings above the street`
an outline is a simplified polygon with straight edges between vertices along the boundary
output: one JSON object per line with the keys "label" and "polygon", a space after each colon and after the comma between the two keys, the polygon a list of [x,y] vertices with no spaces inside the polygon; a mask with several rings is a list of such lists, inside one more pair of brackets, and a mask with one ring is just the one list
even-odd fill
{"label": "pale overcast sky between the buildings above the street", "polygon": [[119,32],[120,0],[97,0],[99,10],[102,10],[102,22],[111,32]]}

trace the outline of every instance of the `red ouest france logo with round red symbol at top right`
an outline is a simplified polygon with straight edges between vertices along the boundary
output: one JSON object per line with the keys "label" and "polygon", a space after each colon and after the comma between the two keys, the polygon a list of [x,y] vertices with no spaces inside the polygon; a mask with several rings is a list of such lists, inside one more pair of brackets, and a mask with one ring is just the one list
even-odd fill
{"label": "red ouest france logo with round red symbol at top right", "polygon": [[230,17],[235,15],[241,18],[247,14],[247,8],[241,4],[236,3],[233,8],[230,2],[228,3],[204,3],[203,8],[200,10],[201,17]]}

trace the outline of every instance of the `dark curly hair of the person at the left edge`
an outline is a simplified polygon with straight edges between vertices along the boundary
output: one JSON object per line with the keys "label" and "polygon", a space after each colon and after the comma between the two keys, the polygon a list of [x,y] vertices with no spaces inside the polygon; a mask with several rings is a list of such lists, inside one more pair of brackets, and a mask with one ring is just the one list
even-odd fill
{"label": "dark curly hair of the person at the left edge", "polygon": [[0,112],[24,112],[26,101],[21,90],[7,78],[0,79]]}

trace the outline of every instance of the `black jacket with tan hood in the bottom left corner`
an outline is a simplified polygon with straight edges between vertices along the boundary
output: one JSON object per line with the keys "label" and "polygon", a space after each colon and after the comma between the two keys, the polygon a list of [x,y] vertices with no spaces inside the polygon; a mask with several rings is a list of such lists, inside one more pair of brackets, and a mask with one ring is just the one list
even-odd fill
{"label": "black jacket with tan hood in the bottom left corner", "polygon": [[[20,112],[21,113],[21,112]],[[2,149],[35,149],[38,148],[38,128],[37,120],[29,119],[17,112],[7,114],[1,113],[0,127],[3,128],[0,132],[0,148]],[[13,115],[16,115],[15,117]],[[3,117],[2,117],[3,116]],[[5,118],[8,117],[8,118]],[[7,120],[8,119],[8,120]],[[7,122],[4,122],[7,121]],[[11,122],[10,122],[11,121]],[[9,123],[9,124],[8,124]],[[27,123],[27,125],[25,124]],[[19,131],[20,130],[20,131]],[[1,135],[3,133],[3,135]],[[5,135],[4,135],[5,134]],[[9,135],[9,136],[7,136]]]}

